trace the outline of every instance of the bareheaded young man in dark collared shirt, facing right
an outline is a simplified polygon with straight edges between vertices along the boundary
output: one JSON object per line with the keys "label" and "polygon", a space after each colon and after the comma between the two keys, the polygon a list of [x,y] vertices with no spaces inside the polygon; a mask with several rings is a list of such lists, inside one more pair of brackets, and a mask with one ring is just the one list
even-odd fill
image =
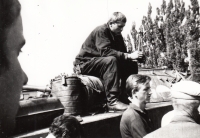
{"label": "bareheaded young man in dark collared shirt, facing right", "polygon": [[120,122],[122,138],[142,138],[151,132],[151,121],[145,110],[150,100],[151,78],[145,75],[131,75],[126,81],[126,92],[131,97],[129,108]]}

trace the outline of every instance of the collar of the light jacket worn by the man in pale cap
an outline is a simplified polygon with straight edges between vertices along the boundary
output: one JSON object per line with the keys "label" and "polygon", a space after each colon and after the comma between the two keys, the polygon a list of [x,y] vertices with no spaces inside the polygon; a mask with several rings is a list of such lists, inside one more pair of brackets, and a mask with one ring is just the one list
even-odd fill
{"label": "collar of the light jacket worn by the man in pale cap", "polygon": [[192,122],[196,123],[193,118],[189,116],[184,116],[184,115],[176,115],[172,118],[171,123],[176,123],[176,122]]}

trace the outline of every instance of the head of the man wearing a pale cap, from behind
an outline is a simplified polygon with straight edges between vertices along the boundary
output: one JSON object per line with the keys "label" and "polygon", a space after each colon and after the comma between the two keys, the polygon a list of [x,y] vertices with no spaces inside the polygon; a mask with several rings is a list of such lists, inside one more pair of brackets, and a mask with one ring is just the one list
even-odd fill
{"label": "head of the man wearing a pale cap, from behind", "polygon": [[194,120],[199,115],[200,84],[194,81],[181,81],[171,88],[174,115],[189,116]]}

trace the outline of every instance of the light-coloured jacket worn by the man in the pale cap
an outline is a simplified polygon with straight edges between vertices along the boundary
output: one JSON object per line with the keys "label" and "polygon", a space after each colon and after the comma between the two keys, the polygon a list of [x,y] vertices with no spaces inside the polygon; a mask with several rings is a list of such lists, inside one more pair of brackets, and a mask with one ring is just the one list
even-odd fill
{"label": "light-coloured jacket worn by the man in the pale cap", "polygon": [[200,125],[188,116],[179,115],[144,138],[200,138]]}

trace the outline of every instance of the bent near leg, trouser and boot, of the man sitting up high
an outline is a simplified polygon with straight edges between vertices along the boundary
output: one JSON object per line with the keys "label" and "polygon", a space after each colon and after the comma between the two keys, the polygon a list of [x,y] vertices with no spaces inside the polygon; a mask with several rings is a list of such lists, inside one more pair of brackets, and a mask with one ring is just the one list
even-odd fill
{"label": "bent near leg, trouser and boot, of the man sitting up high", "polygon": [[118,101],[119,67],[115,57],[98,57],[80,65],[81,74],[92,75],[103,80],[108,107],[113,110],[125,110],[127,105]]}

